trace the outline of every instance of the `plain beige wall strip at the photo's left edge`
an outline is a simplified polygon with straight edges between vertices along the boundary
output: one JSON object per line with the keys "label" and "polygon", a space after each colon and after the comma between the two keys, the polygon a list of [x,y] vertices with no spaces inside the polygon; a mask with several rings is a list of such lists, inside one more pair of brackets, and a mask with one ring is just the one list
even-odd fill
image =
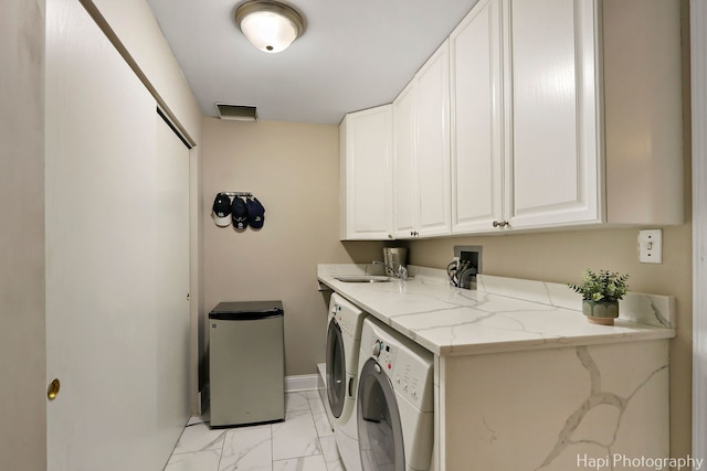
{"label": "plain beige wall strip at the photo's left edge", "polygon": [[0,2],[0,469],[45,469],[44,1]]}

